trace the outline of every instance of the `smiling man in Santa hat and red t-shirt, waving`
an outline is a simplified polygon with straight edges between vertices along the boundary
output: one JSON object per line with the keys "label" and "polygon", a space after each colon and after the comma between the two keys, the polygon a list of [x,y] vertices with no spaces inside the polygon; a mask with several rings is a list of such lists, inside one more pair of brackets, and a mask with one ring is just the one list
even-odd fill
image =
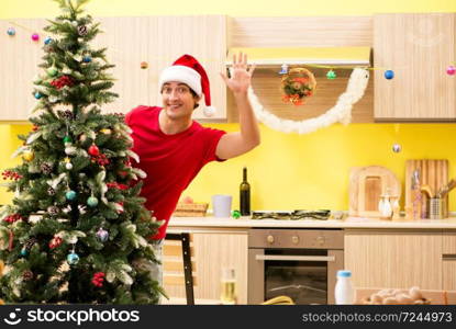
{"label": "smiling man in Santa hat and red t-shirt, waving", "polygon": [[133,151],[140,156],[134,167],[147,173],[141,193],[147,200],[145,206],[158,220],[165,220],[153,239],[165,238],[180,194],[205,163],[241,156],[259,144],[258,124],[247,98],[254,69],[247,67],[247,56],[238,54],[233,57],[231,77],[221,73],[236,101],[241,132],[205,128],[192,121],[202,95],[208,106],[211,97],[203,67],[190,55],[162,72],[163,107],[138,106],[126,115],[133,129]]}

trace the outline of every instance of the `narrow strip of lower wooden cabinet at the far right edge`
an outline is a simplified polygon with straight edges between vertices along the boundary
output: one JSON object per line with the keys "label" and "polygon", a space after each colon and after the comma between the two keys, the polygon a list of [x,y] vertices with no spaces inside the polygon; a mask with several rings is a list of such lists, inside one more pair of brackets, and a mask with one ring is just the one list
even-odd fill
{"label": "narrow strip of lower wooden cabinet at the far right edge", "polygon": [[443,235],[443,288],[456,291],[456,232]]}

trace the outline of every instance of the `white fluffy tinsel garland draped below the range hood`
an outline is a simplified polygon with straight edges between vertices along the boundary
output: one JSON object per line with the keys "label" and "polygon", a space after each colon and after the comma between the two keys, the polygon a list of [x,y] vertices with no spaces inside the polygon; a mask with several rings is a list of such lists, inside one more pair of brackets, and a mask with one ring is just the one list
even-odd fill
{"label": "white fluffy tinsel garland draped below the range hood", "polygon": [[268,127],[283,133],[309,134],[336,122],[349,124],[352,107],[363,98],[368,81],[369,72],[363,68],[355,68],[349,77],[347,89],[340,95],[337,103],[322,115],[303,121],[280,118],[274,115],[260,104],[252,87],[248,90],[248,97],[256,117]]}

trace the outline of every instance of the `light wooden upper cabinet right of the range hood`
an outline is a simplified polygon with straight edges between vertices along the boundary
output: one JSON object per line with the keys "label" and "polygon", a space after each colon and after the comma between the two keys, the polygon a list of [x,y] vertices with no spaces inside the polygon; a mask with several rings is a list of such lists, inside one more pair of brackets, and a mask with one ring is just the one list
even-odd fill
{"label": "light wooden upper cabinet right of the range hood", "polygon": [[456,121],[455,27],[454,13],[375,15],[376,121]]}

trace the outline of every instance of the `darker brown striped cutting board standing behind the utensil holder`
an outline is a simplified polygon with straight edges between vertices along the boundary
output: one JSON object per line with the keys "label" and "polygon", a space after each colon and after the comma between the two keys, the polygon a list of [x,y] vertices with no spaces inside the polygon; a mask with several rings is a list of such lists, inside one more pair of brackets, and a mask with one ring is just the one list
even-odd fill
{"label": "darker brown striped cutting board standing behind the utensil holder", "polygon": [[[412,174],[420,171],[420,183],[431,186],[433,193],[448,182],[448,160],[416,159],[405,161],[405,215],[413,218]],[[446,213],[448,211],[448,196],[445,197]],[[429,197],[421,193],[421,204],[416,207],[418,218],[429,218]]]}

